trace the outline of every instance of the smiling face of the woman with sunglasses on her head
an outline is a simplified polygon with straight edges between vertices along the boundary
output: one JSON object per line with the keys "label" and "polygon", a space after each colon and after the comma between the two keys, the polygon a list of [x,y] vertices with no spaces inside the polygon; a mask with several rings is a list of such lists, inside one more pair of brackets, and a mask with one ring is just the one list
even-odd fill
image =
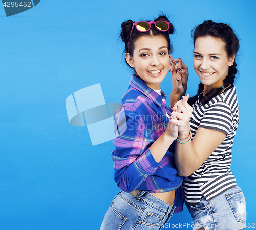
{"label": "smiling face of the woman with sunglasses on her head", "polygon": [[133,57],[125,54],[127,63],[136,75],[152,89],[159,90],[170,67],[168,43],[160,35],[141,36],[135,41]]}

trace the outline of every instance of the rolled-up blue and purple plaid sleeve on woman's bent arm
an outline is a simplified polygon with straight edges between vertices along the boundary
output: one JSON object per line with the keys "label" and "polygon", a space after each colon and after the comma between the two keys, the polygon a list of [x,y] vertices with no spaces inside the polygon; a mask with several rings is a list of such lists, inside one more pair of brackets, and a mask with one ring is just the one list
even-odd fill
{"label": "rolled-up blue and purple plaid sleeve on woman's bent arm", "polygon": [[153,175],[161,163],[155,161],[150,151],[153,140],[140,114],[123,107],[114,119],[116,137],[113,143],[116,149],[112,152],[112,159],[115,181],[123,191],[132,192]]}

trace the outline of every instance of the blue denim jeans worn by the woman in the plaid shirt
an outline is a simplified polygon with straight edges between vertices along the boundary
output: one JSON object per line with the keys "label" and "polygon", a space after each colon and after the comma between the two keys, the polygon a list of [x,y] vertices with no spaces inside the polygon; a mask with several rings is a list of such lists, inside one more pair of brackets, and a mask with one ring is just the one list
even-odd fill
{"label": "blue denim jeans worn by the woman in the plaid shirt", "polygon": [[121,191],[113,199],[100,230],[161,229],[174,210],[174,205],[169,205],[147,191],[139,191],[136,197]]}

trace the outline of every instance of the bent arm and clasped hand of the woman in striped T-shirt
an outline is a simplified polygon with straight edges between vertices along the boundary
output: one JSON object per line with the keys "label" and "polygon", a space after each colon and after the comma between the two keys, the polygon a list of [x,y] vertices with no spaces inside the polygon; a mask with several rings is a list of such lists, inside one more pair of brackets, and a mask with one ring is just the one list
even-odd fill
{"label": "bent arm and clasped hand of the woman in striped T-shirt", "polygon": [[[178,143],[176,141],[175,148],[175,162],[178,170],[178,174],[180,176],[189,176],[196,170],[200,168],[200,166],[205,162],[206,159],[216,150],[216,148],[224,141],[229,132],[229,126],[223,126],[224,123],[228,123],[226,120],[228,118],[223,118],[223,113],[218,116],[219,119],[212,119],[212,121],[207,119],[207,117],[211,117],[212,114],[220,113],[219,105],[215,104],[215,107],[207,113],[204,113],[206,117],[205,120],[201,120],[200,125],[208,126],[208,122],[216,122],[215,126],[209,127],[198,127],[196,134],[193,137],[193,140],[188,141],[187,139],[190,133],[190,117],[191,115],[188,109],[191,109],[188,105],[186,107],[182,107],[182,105],[178,104],[177,107],[173,108],[172,116],[175,119],[172,119],[172,123],[179,125],[179,137],[178,140],[182,143]],[[227,111],[228,107],[223,106]],[[218,113],[214,113],[217,111]],[[215,116],[217,116],[215,115]],[[228,114],[226,113],[225,116]],[[177,119],[176,119],[177,118]],[[189,118],[189,120],[188,120]],[[199,118],[198,118],[199,119]],[[222,121],[223,120],[223,121]],[[232,117],[230,116],[230,119]],[[193,122],[193,120],[192,120]],[[218,129],[218,130],[217,130]],[[191,135],[191,134],[190,134]],[[189,135],[189,137],[191,137]],[[183,140],[182,140],[183,139]],[[187,143],[184,143],[187,142]]]}

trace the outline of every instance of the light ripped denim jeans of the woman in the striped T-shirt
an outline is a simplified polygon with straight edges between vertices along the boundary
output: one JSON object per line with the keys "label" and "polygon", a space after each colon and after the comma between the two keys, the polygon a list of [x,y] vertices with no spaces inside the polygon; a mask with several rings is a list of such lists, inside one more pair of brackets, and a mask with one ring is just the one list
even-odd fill
{"label": "light ripped denim jeans of the woman in the striped T-shirt", "polygon": [[242,190],[236,186],[207,201],[202,196],[196,206],[187,206],[194,229],[238,230],[246,227],[246,206]]}

